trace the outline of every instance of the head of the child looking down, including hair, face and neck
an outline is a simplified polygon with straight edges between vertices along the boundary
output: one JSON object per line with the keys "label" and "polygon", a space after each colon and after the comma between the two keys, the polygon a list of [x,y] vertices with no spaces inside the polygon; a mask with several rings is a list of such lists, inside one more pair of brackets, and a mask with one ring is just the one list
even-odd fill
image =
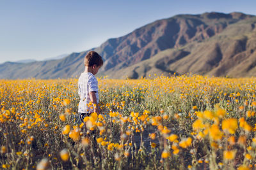
{"label": "head of the child looking down, including hair, face and neck", "polygon": [[90,51],[84,57],[84,66],[91,67],[92,73],[97,74],[99,68],[103,65],[103,60],[99,53]]}

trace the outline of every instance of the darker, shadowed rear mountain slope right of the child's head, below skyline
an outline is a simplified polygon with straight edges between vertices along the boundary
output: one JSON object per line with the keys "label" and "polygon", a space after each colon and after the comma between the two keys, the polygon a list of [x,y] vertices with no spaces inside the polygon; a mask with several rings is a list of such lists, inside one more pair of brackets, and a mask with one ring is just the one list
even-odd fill
{"label": "darker, shadowed rear mountain slope right of the child's head, below skyline", "polygon": [[104,71],[120,63],[131,66],[168,48],[203,41],[220,33],[227,25],[250,17],[242,13],[177,15],[157,20],[121,38],[109,39],[95,50],[106,60]]}

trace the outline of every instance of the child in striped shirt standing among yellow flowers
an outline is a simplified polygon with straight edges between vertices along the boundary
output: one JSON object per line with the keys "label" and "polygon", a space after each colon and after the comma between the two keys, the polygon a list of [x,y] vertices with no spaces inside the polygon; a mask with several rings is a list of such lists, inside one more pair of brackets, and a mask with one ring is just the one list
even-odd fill
{"label": "child in striped shirt standing among yellow flowers", "polygon": [[[78,80],[78,94],[80,102],[78,105],[79,124],[83,122],[84,117],[90,116],[91,113],[99,114],[99,89],[98,81],[95,74],[98,73],[103,65],[103,60],[97,52],[90,51],[84,57],[84,72]],[[88,104],[92,103],[92,106]]]}

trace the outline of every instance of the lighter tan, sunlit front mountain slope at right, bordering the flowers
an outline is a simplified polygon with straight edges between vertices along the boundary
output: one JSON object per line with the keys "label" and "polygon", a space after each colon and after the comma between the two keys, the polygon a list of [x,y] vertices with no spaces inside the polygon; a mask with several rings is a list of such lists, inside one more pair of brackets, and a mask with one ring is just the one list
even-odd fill
{"label": "lighter tan, sunlit front mountain slope at right, bordering the flowers", "polygon": [[243,20],[206,39],[170,48],[148,60],[126,67],[110,69],[113,78],[140,78],[148,74],[196,73],[211,76],[256,76],[256,17]]}

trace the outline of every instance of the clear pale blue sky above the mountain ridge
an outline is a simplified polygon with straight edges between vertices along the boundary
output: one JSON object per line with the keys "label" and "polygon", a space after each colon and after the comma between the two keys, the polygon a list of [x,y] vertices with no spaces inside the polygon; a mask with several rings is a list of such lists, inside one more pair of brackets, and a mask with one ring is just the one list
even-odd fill
{"label": "clear pale blue sky above the mountain ridge", "polygon": [[240,11],[255,0],[0,0],[0,63],[82,52],[177,14]]}

